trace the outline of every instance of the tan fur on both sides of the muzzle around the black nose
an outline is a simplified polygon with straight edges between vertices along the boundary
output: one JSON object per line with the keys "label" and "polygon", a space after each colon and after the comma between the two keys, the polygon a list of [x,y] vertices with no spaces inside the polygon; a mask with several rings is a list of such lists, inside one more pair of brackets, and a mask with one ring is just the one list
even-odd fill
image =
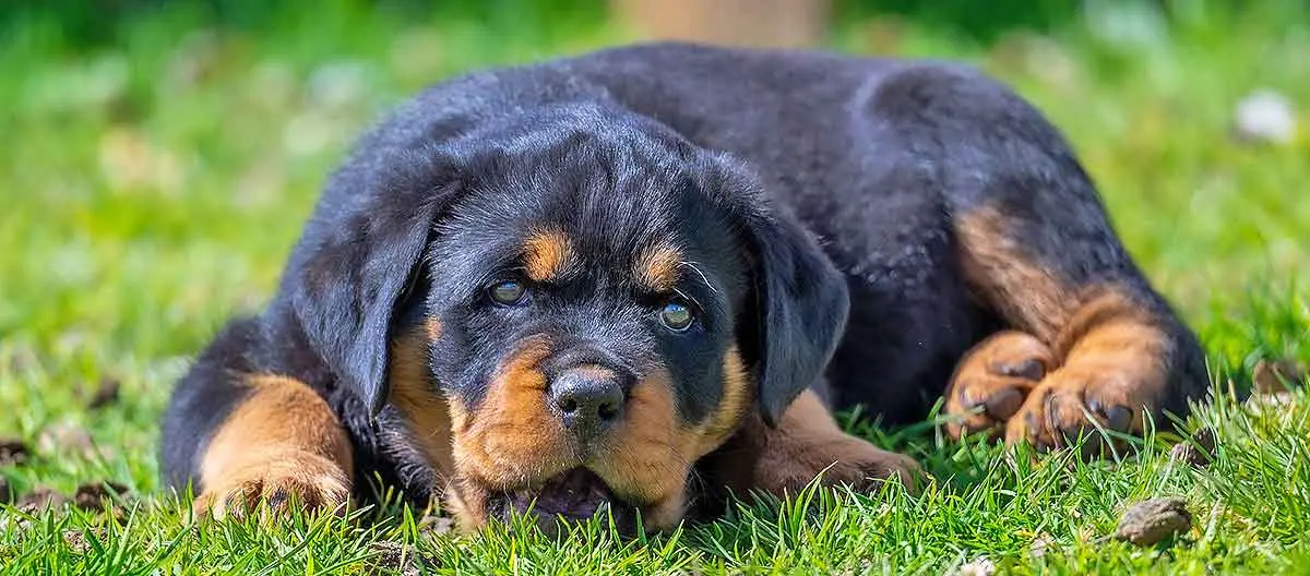
{"label": "tan fur on both sides of the muzzle around the black nose", "polygon": [[[647,529],[681,521],[692,465],[732,435],[753,398],[736,348],[724,355],[723,397],[705,422],[680,422],[669,373],[656,367],[633,386],[622,420],[588,462],[574,459],[571,437],[546,407],[548,382],[540,363],[549,353],[542,343],[515,353],[476,411],[449,401],[458,474],[448,484],[447,505],[456,511],[461,528],[486,522],[487,499],[495,491],[546,480],[584,463],[617,496],[641,507]],[[613,377],[612,369],[600,365],[576,369]]]}

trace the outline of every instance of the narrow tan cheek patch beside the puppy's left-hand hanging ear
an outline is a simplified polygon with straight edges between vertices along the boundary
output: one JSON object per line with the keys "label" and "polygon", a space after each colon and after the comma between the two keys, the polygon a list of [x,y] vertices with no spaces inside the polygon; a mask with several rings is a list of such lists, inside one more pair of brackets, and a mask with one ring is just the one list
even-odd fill
{"label": "narrow tan cheek patch beside the puppy's left-hand hanging ear", "polygon": [[390,403],[401,412],[410,440],[445,478],[453,470],[449,406],[428,369],[431,343],[440,334],[434,318],[392,343],[389,387]]}

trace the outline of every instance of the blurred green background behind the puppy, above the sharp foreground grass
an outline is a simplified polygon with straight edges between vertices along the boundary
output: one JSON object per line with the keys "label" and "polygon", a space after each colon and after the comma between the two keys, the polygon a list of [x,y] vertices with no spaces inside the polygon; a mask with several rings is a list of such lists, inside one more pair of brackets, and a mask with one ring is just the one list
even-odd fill
{"label": "blurred green background behind the puppy, above the sharp foreground grass", "polygon": [[1217,361],[1310,357],[1303,1],[8,0],[0,402],[109,372],[149,420],[386,107],[655,38],[971,62],[1069,136]]}

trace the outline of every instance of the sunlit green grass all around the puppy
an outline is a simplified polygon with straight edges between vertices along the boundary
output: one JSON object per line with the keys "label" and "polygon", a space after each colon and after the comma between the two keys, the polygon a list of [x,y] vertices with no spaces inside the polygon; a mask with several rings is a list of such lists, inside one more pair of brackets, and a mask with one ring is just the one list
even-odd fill
{"label": "sunlit green grass all around the puppy", "polygon": [[[1028,463],[947,442],[927,424],[857,422],[935,482],[918,496],[816,492],[741,507],[638,541],[593,522],[563,546],[523,526],[432,534],[405,516],[373,528],[189,525],[185,504],[157,494],[156,422],[189,355],[270,295],[318,185],[369,119],[428,81],[599,47],[621,30],[334,8],[267,34],[214,34],[177,12],[134,22],[111,47],[73,50],[30,22],[0,41],[0,436],[39,449],[0,474],[20,492],[107,479],[145,497],[124,503],[122,521],[0,511],[0,572],[363,573],[383,541],[413,546],[424,569],[473,573],[943,573],[977,558],[1019,573],[1305,571],[1310,398],[1252,411],[1229,390],[1260,359],[1310,361],[1310,137],[1302,128],[1288,145],[1246,145],[1230,123],[1260,86],[1300,102],[1310,122],[1310,14],[1179,8],[1172,27],[1137,29],[1098,26],[1111,18],[1093,4],[1099,12],[1052,37],[984,46],[869,21],[846,22],[833,42],[979,63],[1069,135],[1129,249],[1210,351],[1218,401],[1189,428],[1216,429],[1216,461],[1171,462],[1171,439],[1157,436],[1121,462]],[[122,401],[85,408],[105,377],[122,381]],[[69,427],[93,449],[41,442]],[[1169,549],[1104,538],[1127,503],[1155,495],[1188,500],[1192,533]],[[1052,542],[1040,558],[1035,541]]]}

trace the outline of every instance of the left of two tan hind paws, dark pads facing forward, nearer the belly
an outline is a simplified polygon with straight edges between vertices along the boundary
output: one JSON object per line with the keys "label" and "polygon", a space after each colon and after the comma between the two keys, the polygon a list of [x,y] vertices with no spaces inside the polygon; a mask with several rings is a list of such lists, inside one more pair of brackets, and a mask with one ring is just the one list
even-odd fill
{"label": "left of two tan hind paws, dark pads facing forward, nearer the belly", "polygon": [[1051,348],[1018,331],[996,334],[968,351],[946,389],[946,433],[998,439],[1053,364]]}

